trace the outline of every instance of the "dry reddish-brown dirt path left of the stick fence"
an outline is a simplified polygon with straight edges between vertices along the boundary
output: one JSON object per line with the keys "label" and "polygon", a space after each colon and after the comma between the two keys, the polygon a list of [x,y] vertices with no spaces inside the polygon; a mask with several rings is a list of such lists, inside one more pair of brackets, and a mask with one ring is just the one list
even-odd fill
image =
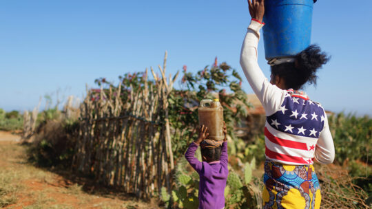
{"label": "dry reddish-brown dirt path left of the stick fence", "polygon": [[0,131],[0,208],[158,208],[32,166],[17,135]]}

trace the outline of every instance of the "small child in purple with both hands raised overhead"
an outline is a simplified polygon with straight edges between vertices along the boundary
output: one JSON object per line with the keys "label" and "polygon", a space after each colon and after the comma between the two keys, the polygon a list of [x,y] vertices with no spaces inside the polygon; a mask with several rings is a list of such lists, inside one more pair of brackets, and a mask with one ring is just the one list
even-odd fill
{"label": "small child in purple with both hands raised overhead", "polygon": [[[223,141],[207,140],[209,135],[207,126],[200,126],[198,139],[187,148],[185,158],[198,172],[199,183],[199,208],[222,209],[225,207],[225,187],[229,169],[227,168],[227,128],[223,122]],[[194,157],[200,145],[203,162]]]}

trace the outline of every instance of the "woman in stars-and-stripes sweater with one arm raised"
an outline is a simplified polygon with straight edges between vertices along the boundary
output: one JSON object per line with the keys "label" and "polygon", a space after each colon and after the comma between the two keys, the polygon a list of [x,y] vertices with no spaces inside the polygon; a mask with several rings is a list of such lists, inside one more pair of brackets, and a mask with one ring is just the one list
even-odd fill
{"label": "woman in stars-and-stripes sweater with one arm raised", "polygon": [[265,13],[263,0],[248,0],[251,23],[240,65],[267,115],[265,124],[264,208],[320,208],[320,185],[313,162],[330,164],[335,150],[327,115],[318,102],[299,91],[316,83],[317,70],[329,57],[316,45],[290,58],[274,58],[271,79],[257,62]]}

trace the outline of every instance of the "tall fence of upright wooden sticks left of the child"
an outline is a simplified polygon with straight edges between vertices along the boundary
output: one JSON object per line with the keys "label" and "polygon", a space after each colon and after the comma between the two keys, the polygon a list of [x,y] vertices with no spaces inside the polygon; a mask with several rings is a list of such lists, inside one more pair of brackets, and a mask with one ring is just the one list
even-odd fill
{"label": "tall fence of upright wooden sticks left of the child", "polygon": [[167,53],[161,78],[154,70],[154,83],[130,91],[121,98],[122,83],[116,89],[101,88],[99,97],[87,89],[81,105],[81,126],[72,168],[107,186],[149,198],[165,186],[170,192],[174,160],[168,120],[167,98],[176,76],[165,76]]}

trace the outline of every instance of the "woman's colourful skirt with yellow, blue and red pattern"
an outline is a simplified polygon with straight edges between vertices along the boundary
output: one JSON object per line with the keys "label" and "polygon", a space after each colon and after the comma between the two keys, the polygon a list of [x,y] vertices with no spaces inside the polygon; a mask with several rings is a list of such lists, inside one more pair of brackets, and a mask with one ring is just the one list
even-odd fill
{"label": "woman's colourful skirt with yellow, blue and red pattern", "polygon": [[264,208],[320,208],[320,185],[313,165],[265,162]]}

